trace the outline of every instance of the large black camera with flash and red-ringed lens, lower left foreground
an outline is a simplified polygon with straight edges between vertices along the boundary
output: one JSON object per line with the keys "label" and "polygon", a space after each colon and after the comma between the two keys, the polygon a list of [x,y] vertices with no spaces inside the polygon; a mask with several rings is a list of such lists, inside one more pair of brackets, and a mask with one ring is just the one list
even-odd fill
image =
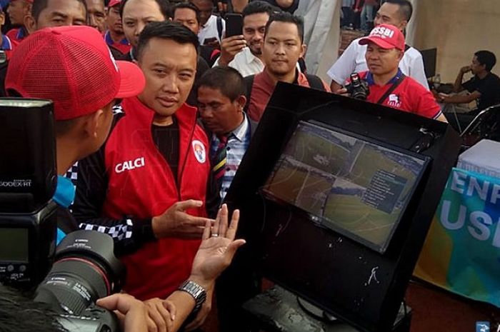
{"label": "large black camera with flash and red-ringed lens, lower left foreground", "polygon": [[48,303],[68,331],[119,331],[114,313],[95,305],[124,281],[113,239],[75,231],[56,248],[51,101],[0,99],[0,123],[0,283],[35,289],[34,301]]}

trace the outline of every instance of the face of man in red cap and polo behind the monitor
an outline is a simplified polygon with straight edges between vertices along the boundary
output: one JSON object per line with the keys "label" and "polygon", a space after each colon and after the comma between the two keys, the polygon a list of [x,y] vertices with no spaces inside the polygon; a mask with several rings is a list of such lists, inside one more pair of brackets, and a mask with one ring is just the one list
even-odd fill
{"label": "face of man in red cap and polo behind the monitor", "polygon": [[389,74],[398,69],[403,52],[399,49],[382,49],[380,46],[369,42],[366,48],[366,64],[374,75]]}

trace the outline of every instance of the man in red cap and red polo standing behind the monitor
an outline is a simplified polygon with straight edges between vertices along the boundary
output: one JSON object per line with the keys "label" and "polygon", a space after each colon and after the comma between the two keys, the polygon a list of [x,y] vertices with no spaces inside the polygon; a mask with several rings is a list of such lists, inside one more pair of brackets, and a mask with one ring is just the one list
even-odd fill
{"label": "man in red cap and red polo standing behind the monitor", "polygon": [[430,91],[399,69],[404,36],[395,26],[381,24],[359,40],[366,45],[368,71],[360,73],[369,86],[367,101],[446,122]]}

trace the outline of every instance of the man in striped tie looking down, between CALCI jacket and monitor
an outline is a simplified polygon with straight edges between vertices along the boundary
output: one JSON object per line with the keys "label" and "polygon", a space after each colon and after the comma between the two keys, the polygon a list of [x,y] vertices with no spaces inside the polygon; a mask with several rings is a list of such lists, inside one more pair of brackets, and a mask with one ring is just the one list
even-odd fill
{"label": "man in striped tie looking down, between CALCI jacket and monitor", "polygon": [[198,109],[209,131],[212,172],[223,200],[257,127],[243,111],[245,90],[243,76],[231,67],[209,69],[199,81]]}

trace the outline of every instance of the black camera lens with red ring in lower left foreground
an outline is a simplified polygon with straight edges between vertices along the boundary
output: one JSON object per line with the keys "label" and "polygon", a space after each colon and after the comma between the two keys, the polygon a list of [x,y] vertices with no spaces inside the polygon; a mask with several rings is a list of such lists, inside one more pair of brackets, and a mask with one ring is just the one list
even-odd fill
{"label": "black camera lens with red ring in lower left foreground", "polygon": [[113,250],[113,239],[104,233],[69,233],[57,246],[54,265],[36,288],[34,301],[51,305],[68,331],[119,331],[114,313],[95,305],[120,291],[124,281],[125,268]]}

